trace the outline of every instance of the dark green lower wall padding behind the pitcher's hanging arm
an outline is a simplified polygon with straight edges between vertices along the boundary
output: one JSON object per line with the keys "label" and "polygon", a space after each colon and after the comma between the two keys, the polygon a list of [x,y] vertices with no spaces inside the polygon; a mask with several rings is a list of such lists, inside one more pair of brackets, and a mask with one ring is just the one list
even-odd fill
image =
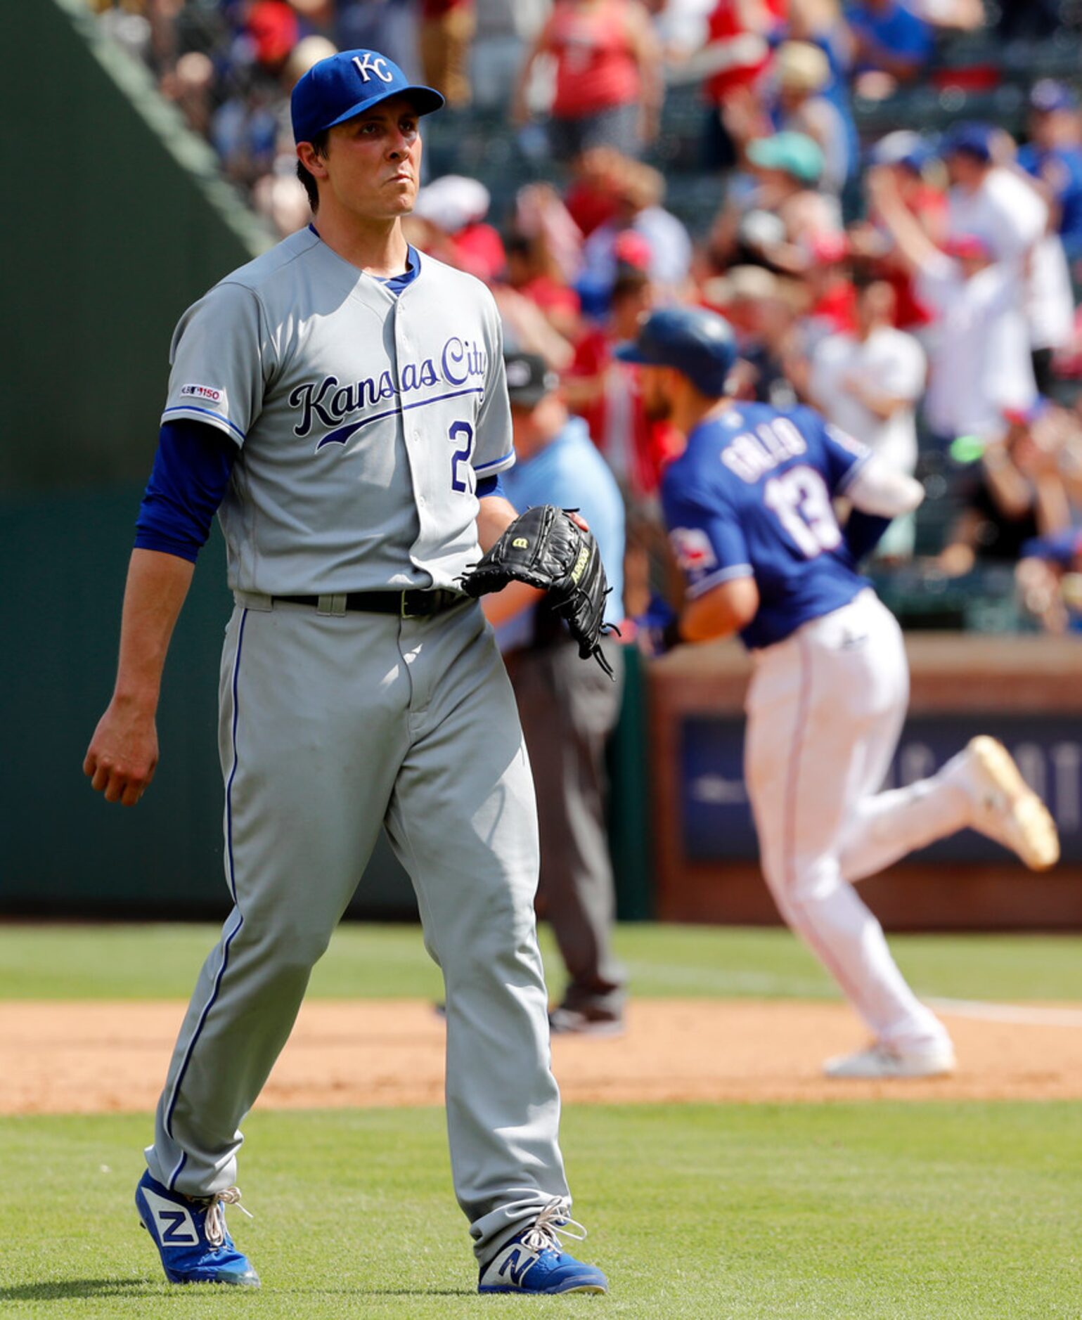
{"label": "dark green lower wall padding behind the pitcher's hanging arm", "polygon": [[[126,484],[0,499],[0,912],[152,917],[229,909],[217,694],[233,601],[217,531],[169,649],[153,784],[136,808],[123,808],[91,792],[82,774],[112,690],[140,492]],[[386,841],[354,911],[416,911]]]}

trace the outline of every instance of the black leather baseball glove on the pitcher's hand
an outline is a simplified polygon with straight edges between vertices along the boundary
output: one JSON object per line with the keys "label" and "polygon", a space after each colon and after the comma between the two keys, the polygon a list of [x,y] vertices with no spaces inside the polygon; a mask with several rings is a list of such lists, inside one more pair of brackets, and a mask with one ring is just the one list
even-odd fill
{"label": "black leather baseball glove on the pitcher's hand", "polygon": [[509,582],[527,582],[548,593],[548,607],[567,622],[579,655],[593,656],[612,678],[601,651],[601,636],[618,632],[604,622],[605,597],[612,587],[592,532],[584,532],[568,512],[538,504],[511,523],[472,572],[461,578],[472,597],[499,591]]}

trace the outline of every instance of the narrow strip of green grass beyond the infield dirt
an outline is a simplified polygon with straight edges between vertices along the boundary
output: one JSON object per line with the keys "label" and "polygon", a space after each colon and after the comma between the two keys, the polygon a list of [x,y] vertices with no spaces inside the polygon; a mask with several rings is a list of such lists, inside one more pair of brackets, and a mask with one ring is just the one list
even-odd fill
{"label": "narrow strip of green grass beyond the infield dirt", "polygon": [[[0,999],[186,998],[217,939],[213,925],[0,925]],[[550,983],[560,962],[542,931]],[[921,994],[1082,1001],[1079,936],[893,936]],[[783,929],[622,925],[616,945],[634,994],[838,998],[834,982]],[[343,925],[316,968],[313,995],[439,998],[420,931]]]}

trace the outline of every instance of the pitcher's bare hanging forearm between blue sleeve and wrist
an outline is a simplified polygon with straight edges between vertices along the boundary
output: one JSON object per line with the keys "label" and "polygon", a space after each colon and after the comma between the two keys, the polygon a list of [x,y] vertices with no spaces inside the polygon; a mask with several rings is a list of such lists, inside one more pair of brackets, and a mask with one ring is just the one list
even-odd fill
{"label": "pitcher's bare hanging forearm between blue sleeve and wrist", "polygon": [[194,569],[176,554],[132,550],[114,701],[157,708],[165,655]]}

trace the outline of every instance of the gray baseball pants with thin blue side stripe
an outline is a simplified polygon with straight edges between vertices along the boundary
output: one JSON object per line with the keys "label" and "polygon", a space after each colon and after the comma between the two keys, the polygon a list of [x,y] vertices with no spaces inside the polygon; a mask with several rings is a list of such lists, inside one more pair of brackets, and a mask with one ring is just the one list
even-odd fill
{"label": "gray baseball pants with thin blue side stripe", "polygon": [[534,785],[481,609],[399,619],[238,597],[219,751],[234,908],[181,1027],[152,1176],[188,1195],[236,1180],[239,1125],[386,824],[444,974],[454,1191],[491,1255],[567,1183]]}

